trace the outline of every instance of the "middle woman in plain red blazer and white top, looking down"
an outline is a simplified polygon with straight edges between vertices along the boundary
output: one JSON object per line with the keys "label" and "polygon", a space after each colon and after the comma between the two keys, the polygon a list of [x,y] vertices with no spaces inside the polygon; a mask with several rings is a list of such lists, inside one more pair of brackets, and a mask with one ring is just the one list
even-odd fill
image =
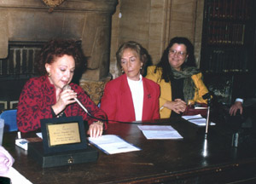
{"label": "middle woman in plain red blazer and white top, looking down", "polygon": [[160,87],[142,76],[148,62],[147,50],[136,42],[123,43],[116,58],[124,74],[108,82],[104,89],[101,108],[108,122],[160,118]]}

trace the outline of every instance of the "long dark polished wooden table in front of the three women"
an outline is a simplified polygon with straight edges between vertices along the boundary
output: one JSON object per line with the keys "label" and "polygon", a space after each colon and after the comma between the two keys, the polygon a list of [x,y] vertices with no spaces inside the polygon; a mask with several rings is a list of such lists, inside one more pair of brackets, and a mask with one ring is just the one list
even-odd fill
{"label": "long dark polished wooden table in front of the three women", "polygon": [[223,124],[210,126],[207,140],[205,127],[182,118],[152,124],[172,125],[183,140],[147,140],[137,124],[109,124],[106,134],[119,135],[142,151],[113,155],[99,151],[95,163],[47,169],[15,146],[15,132],[4,135],[3,146],[15,158],[15,169],[34,184],[256,182],[256,148],[231,147],[232,132]]}

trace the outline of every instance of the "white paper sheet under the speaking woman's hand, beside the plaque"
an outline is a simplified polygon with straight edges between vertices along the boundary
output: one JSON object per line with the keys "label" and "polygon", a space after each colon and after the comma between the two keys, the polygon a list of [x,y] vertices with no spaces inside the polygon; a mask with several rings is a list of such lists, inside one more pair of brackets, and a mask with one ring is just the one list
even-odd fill
{"label": "white paper sheet under the speaking woman's hand, beside the plaque", "polygon": [[102,135],[98,138],[88,138],[89,142],[103,152],[107,154],[115,154],[120,152],[133,152],[140,151],[141,149],[138,147],[134,147],[127,141],[124,141],[117,135]]}

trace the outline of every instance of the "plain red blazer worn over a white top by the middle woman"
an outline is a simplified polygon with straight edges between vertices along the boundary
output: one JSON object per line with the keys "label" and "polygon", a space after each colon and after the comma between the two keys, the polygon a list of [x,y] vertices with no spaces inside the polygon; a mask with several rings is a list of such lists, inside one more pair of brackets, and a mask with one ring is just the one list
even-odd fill
{"label": "plain red blazer worn over a white top by the middle woman", "polygon": [[[143,78],[143,89],[143,120],[159,119],[160,86],[148,78]],[[106,84],[101,108],[107,113],[108,120],[135,121],[131,90],[126,74]]]}

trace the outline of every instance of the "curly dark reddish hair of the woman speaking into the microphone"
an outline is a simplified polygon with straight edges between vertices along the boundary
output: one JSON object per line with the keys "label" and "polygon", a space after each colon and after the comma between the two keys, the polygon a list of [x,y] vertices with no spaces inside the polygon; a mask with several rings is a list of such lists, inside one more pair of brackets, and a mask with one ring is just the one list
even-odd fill
{"label": "curly dark reddish hair of the woman speaking into the microphone", "polygon": [[37,56],[36,66],[38,72],[42,75],[46,74],[45,64],[53,63],[57,57],[63,55],[71,55],[75,60],[75,67],[77,69],[85,69],[86,58],[83,55],[80,44],[74,40],[67,39],[51,39],[45,43]]}

